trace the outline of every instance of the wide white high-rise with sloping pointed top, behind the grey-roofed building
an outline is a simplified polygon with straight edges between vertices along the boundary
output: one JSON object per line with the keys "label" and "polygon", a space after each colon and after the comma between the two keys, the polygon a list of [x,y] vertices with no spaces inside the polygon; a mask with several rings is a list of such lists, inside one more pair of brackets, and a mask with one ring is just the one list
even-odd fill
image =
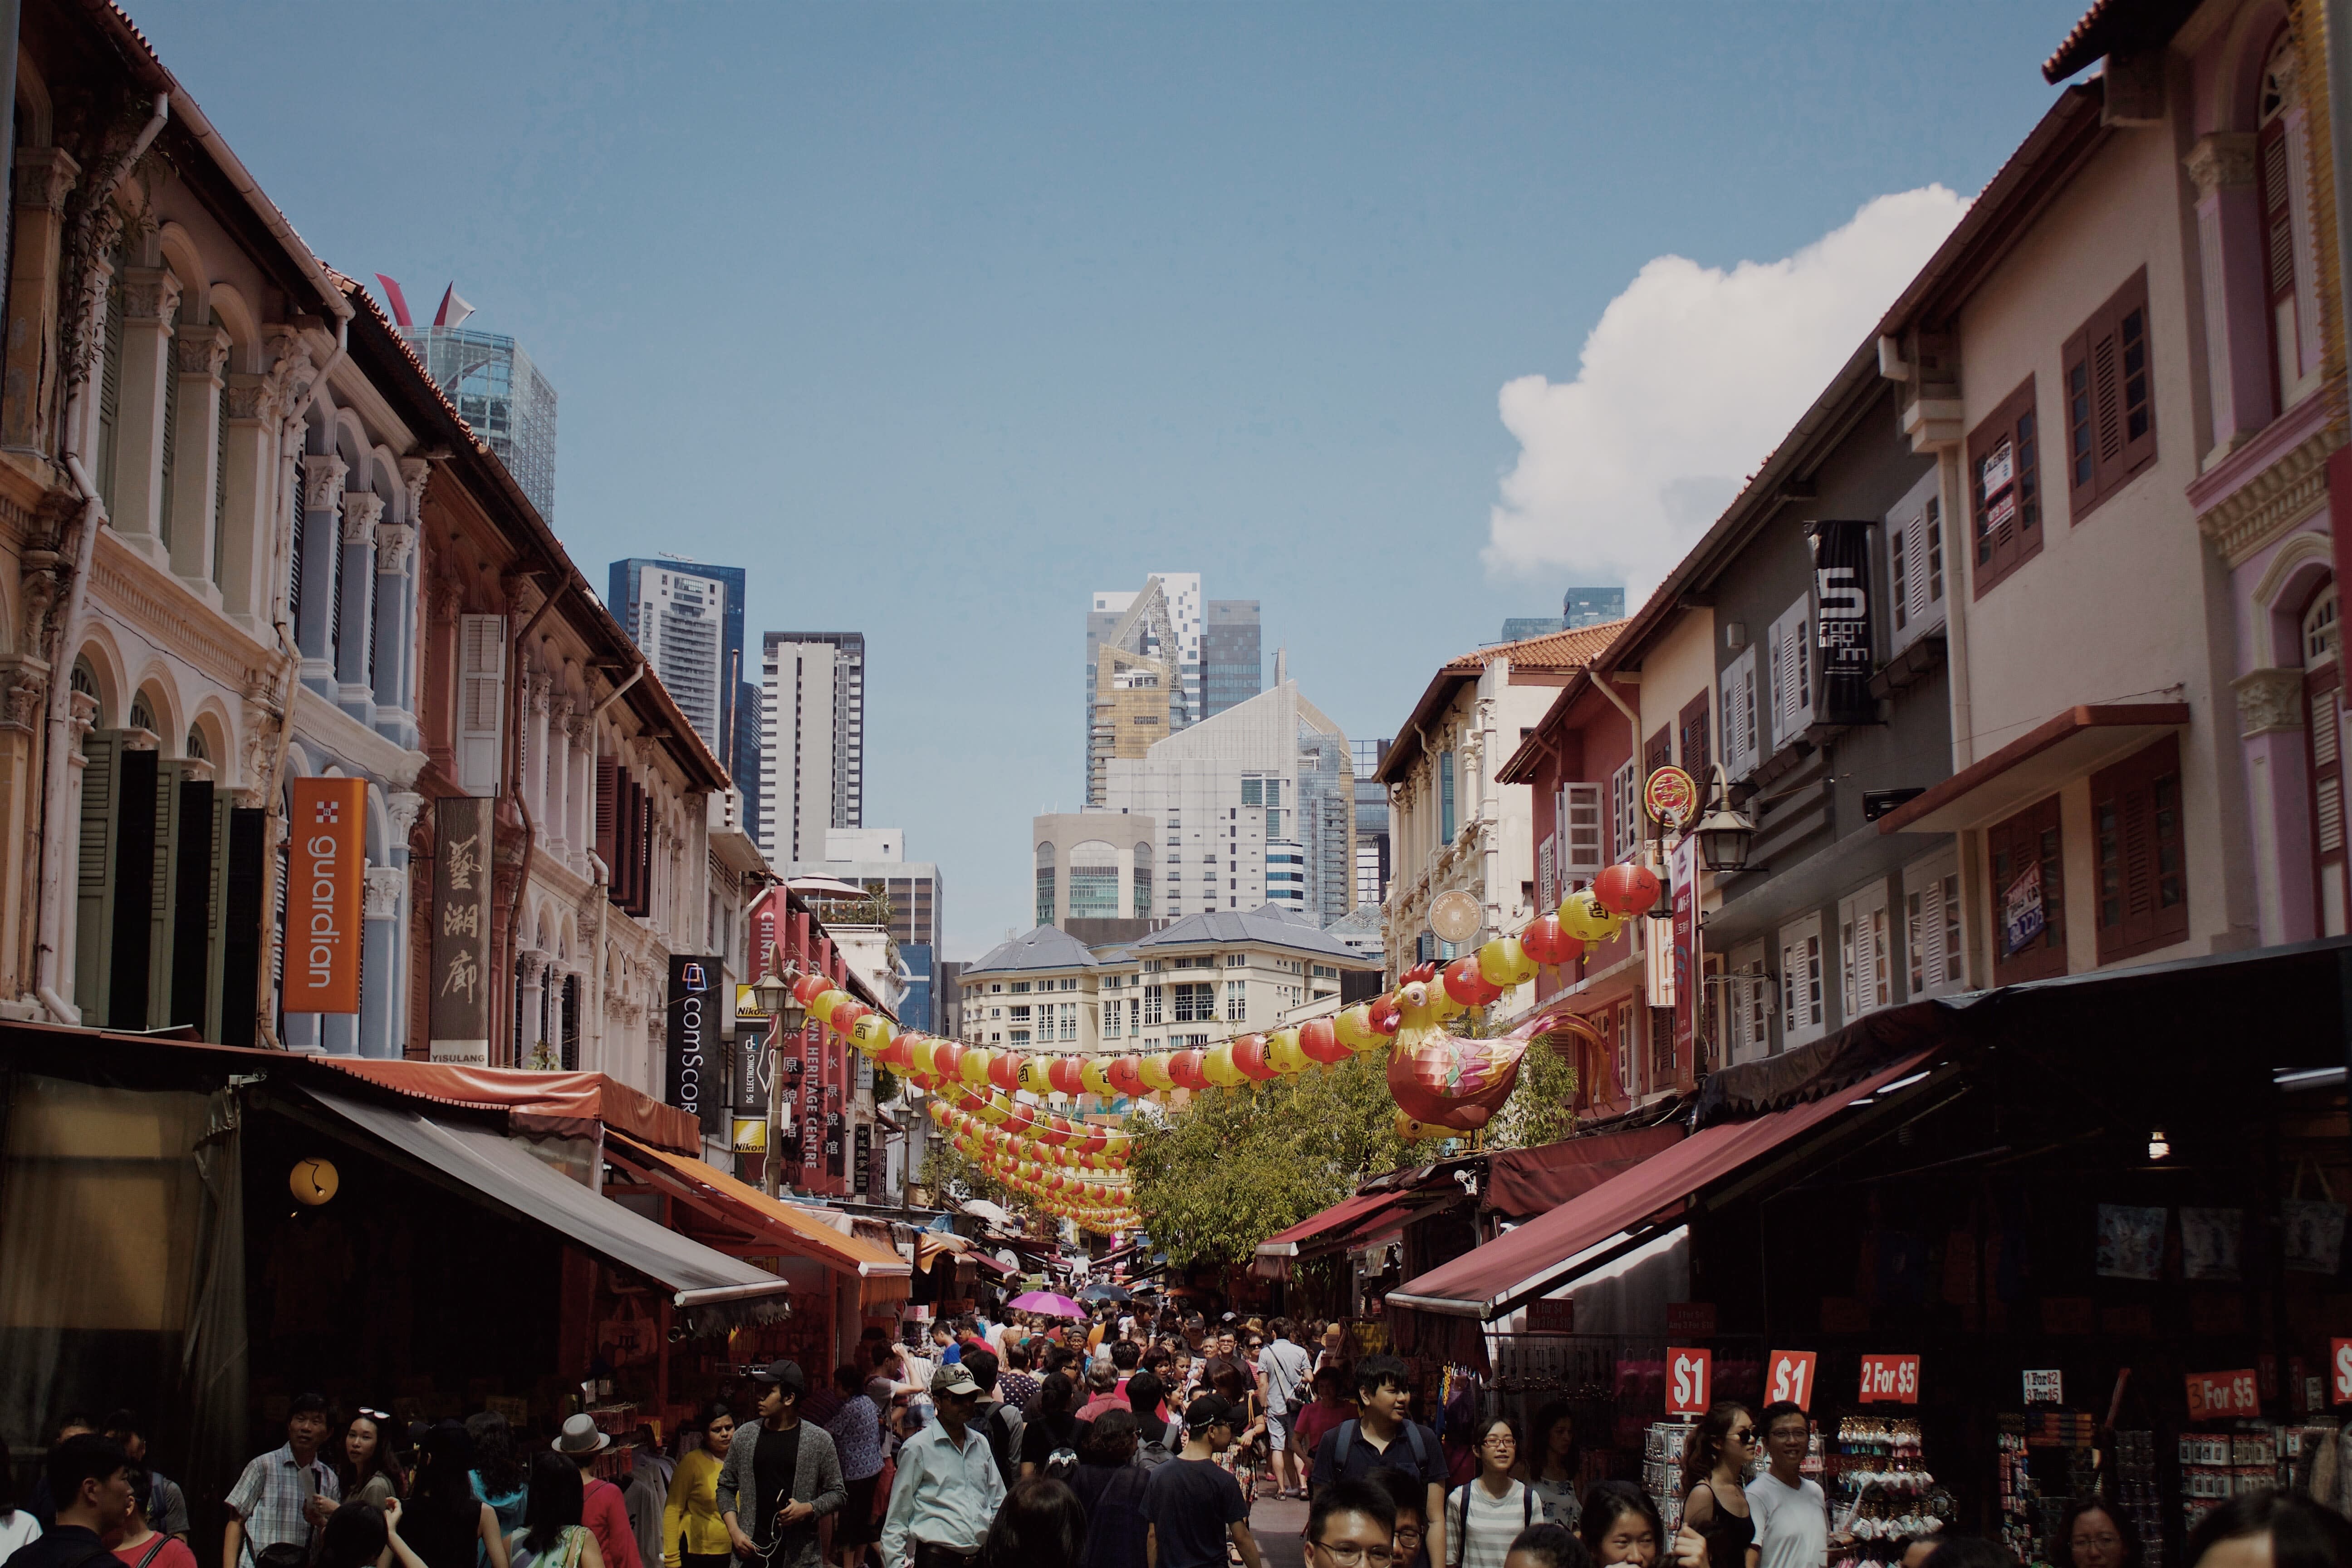
{"label": "wide white high-rise with sloping pointed top, behind the grey-roofed building", "polygon": [[[1268,691],[1169,736],[1143,759],[1105,764],[1105,797],[1108,811],[1162,830],[1155,914],[1277,900],[1327,926],[1355,907],[1348,736],[1279,670]],[[1040,891],[1044,872],[1040,858]]]}

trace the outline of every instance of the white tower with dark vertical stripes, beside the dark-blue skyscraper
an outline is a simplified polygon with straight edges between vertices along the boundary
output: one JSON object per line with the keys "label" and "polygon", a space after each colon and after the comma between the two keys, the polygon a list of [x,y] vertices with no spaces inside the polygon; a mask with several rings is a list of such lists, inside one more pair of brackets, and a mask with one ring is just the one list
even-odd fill
{"label": "white tower with dark vertical stripes, beside the dark-blue skyscraper", "polygon": [[866,632],[760,639],[760,849],[826,858],[828,827],[866,825]]}

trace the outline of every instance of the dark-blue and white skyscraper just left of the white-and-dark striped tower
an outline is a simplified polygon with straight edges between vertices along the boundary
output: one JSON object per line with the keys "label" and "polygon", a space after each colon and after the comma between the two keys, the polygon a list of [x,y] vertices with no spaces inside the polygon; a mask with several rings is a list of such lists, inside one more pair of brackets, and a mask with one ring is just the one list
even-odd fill
{"label": "dark-blue and white skyscraper just left of the white-and-dark striped tower", "polygon": [[743,729],[760,729],[760,689],[743,670],[743,567],[633,555],[612,564],[604,604],[734,773],[743,790],[743,827],[757,839],[760,752],[741,741]]}

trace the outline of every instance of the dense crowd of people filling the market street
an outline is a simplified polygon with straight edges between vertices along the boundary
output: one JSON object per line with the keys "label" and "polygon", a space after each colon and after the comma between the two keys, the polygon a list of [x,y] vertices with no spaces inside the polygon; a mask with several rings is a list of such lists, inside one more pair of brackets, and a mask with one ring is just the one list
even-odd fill
{"label": "dense crowd of people filling the market street", "polygon": [[[1343,1326],[1141,1312],[870,1331],[814,1389],[746,1368],[668,1446],[640,1429],[626,1483],[586,1413],[527,1441],[496,1410],[402,1427],[303,1394],[221,1497],[219,1568],[1261,1568],[1258,1497],[1308,1502],[1308,1568],[1823,1568],[1839,1544],[1792,1403],[1698,1422],[1672,1535],[1637,1486],[1581,1486],[1566,1406],[1442,1443],[1411,1403],[1406,1366],[1355,1359]],[[136,1413],[68,1415],[21,1500],[14,1474],[0,1446],[0,1568],[200,1568]],[[2051,1556],[2143,1568],[2100,1502]],[[1900,1568],[2018,1563],[1936,1535]],[[2183,1568],[2352,1568],[2352,1523],[2241,1495]]]}

